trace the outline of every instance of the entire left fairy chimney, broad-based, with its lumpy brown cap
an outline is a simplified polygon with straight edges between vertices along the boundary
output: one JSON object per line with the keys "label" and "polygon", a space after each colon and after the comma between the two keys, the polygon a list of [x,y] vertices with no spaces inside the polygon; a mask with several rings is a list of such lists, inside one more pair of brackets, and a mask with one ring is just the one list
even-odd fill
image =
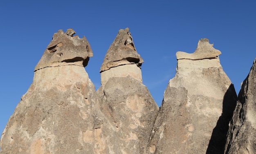
{"label": "entire left fairy chimney, broad-based, with its lumpy brown cap", "polygon": [[103,116],[84,66],[92,50],[73,29],[54,34],[2,133],[1,154],[99,153]]}

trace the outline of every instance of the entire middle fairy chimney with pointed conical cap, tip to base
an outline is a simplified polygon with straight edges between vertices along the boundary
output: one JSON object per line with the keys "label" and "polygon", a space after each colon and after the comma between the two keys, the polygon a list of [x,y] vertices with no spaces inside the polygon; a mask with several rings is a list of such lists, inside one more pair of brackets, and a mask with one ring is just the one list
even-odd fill
{"label": "entire middle fairy chimney with pointed conical cap, tip to base", "polygon": [[113,154],[148,154],[148,137],[159,107],[142,84],[142,58],[129,29],[121,29],[101,66],[97,90],[101,112],[112,125],[104,134]]}

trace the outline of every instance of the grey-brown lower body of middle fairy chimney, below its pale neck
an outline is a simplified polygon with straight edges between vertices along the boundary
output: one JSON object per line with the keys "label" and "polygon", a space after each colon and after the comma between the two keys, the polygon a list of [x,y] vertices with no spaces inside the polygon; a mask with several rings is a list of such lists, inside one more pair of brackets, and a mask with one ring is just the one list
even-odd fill
{"label": "grey-brown lower body of middle fairy chimney, below its pale neck", "polygon": [[128,77],[112,77],[97,90],[101,112],[114,132],[104,136],[114,154],[148,154],[148,137],[159,107],[147,87]]}

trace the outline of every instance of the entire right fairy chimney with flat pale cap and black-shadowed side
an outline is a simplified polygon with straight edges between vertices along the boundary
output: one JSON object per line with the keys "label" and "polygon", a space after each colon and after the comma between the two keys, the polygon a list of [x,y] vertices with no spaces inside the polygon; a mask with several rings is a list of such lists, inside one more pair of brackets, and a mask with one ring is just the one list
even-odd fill
{"label": "entire right fairy chimney with flat pale cap and black-shadowed side", "polygon": [[220,51],[199,40],[193,54],[177,52],[177,72],[150,135],[155,154],[224,152],[236,92],[220,65]]}

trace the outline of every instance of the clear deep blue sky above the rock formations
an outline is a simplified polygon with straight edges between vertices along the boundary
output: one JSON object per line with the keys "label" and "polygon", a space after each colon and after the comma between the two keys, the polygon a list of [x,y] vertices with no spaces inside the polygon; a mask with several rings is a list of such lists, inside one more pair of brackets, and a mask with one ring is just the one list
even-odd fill
{"label": "clear deep blue sky above the rock formations", "polygon": [[175,76],[175,53],[193,53],[201,38],[222,52],[220,63],[238,93],[256,57],[255,8],[255,0],[2,0],[0,133],[59,29],[73,28],[90,42],[94,57],[85,69],[96,89],[106,51],[119,29],[129,27],[145,61],[143,83],[158,105]]}

